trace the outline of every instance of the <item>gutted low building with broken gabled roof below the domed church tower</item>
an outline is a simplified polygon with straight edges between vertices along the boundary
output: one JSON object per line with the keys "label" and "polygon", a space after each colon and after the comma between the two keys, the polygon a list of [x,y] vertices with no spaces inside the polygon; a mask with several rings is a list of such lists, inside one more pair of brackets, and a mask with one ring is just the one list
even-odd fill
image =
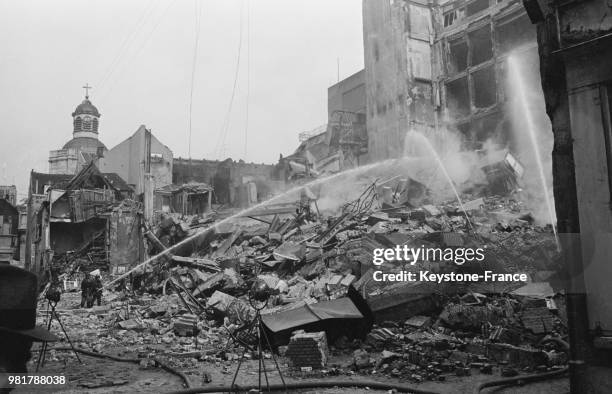
{"label": "gutted low building with broken gabled roof below the domed church tower", "polygon": [[130,206],[129,218],[122,209],[133,198],[121,177],[91,162],[75,176],[32,171],[25,266],[42,273],[81,260],[108,270],[142,260],[142,208]]}

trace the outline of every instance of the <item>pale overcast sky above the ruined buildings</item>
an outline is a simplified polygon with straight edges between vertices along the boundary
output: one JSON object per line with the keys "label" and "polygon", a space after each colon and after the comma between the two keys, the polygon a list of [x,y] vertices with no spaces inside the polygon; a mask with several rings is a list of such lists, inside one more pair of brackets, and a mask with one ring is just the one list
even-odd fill
{"label": "pale overcast sky above the ruined buildings", "polygon": [[276,162],[326,123],[337,59],[363,68],[360,0],[0,0],[0,184],[48,171],[85,83],[108,148],[144,124],[187,157],[198,7],[193,158]]}

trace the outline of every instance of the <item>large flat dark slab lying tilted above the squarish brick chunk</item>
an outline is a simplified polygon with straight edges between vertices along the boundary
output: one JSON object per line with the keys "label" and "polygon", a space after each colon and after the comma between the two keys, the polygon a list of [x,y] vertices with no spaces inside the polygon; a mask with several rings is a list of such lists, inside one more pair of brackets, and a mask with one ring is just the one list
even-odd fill
{"label": "large flat dark slab lying tilted above the squarish brick chunk", "polygon": [[298,328],[328,319],[362,319],[363,315],[349,298],[306,304],[285,312],[264,314],[264,325],[272,332]]}

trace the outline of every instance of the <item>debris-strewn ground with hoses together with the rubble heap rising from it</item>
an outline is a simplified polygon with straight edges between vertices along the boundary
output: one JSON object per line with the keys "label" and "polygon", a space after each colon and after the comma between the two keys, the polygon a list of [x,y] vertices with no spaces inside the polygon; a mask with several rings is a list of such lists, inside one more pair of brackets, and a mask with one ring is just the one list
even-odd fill
{"label": "debris-strewn ground with hoses together with the rubble heap rising from it", "polygon": [[[367,179],[355,183],[362,188],[352,193],[358,198],[325,213],[318,207],[321,196],[306,187],[294,203],[243,213],[221,210],[204,219],[161,214],[147,233],[152,255],[159,255],[131,273],[104,273],[101,306],[81,308],[76,291],[77,272],[92,267],[63,265],[69,269],[58,272],[59,280],[75,290],[63,294],[57,310],[73,344],[129,361],[81,354],[81,365],[64,340],[50,346],[62,350],[48,351],[44,370],[65,373],[73,390],[185,387],[162,364],[184,373],[191,387],[229,386],[249,346],[236,383],[256,384],[254,307],[263,308],[262,334],[288,382],[376,380],[457,392],[486,380],[567,367],[554,234],[534,223],[518,195],[466,200],[463,214],[452,200],[434,204],[414,181],[381,185]],[[221,219],[231,214],[231,220]],[[213,220],[219,224],[209,227]],[[435,259],[372,264],[375,249],[395,245],[478,246],[486,258],[462,266]],[[524,272],[529,281],[372,279],[374,269],[424,267],[436,273]],[[265,304],[249,298],[254,283],[266,285]],[[38,310],[42,321],[46,303]],[[271,382],[280,383],[271,349],[263,347]],[[35,363],[36,349],[33,354]],[[564,381],[545,387],[557,390]]]}

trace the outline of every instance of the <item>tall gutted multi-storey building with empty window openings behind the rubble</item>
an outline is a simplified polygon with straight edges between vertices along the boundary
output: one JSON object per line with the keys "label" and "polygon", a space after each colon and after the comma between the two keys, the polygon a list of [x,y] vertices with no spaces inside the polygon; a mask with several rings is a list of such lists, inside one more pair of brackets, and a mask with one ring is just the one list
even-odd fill
{"label": "tall gutted multi-storey building with empty window openings behind the rubble", "polygon": [[400,157],[408,130],[512,144],[506,59],[539,86],[535,28],[517,0],[364,0],[370,161]]}

